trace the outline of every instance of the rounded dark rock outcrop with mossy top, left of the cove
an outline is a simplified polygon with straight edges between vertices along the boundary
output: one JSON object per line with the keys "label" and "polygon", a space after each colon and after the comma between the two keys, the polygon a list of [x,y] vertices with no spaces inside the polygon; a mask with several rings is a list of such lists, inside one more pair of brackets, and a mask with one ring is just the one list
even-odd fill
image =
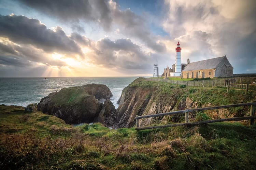
{"label": "rounded dark rock outcrop with mossy top, left of the cove", "polygon": [[[112,92],[105,85],[87,84],[63,88],[43,98],[38,111],[54,115],[68,124],[101,122],[115,124]],[[104,101],[104,104],[100,101]]]}

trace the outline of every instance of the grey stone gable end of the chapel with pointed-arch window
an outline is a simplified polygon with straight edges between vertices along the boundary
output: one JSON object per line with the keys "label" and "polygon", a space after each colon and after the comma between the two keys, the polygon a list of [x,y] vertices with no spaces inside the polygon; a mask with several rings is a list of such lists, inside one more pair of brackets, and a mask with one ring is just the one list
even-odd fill
{"label": "grey stone gable end of the chapel with pointed-arch window", "polygon": [[[226,65],[227,71],[223,72],[223,66]],[[229,63],[226,57],[218,64],[215,70],[215,77],[232,77],[233,76],[233,67]]]}

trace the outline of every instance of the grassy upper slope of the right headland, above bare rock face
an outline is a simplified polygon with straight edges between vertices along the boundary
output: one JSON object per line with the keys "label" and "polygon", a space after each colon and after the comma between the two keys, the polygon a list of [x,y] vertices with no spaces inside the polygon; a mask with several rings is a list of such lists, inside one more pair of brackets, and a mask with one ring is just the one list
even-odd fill
{"label": "grassy upper slope of the right headland, above bare rock face", "polygon": [[[181,107],[184,107],[187,97],[193,101],[197,101],[198,107],[202,107],[208,103],[211,103],[213,106],[251,102],[251,100],[255,100],[256,97],[256,92],[248,92],[245,94],[244,91],[240,90],[229,90],[227,94],[227,88],[225,87],[187,86],[185,88],[181,88],[180,85],[173,85],[165,82],[146,81],[144,79],[134,80],[124,90],[131,89],[136,89],[139,91],[143,89],[151,89],[152,94],[149,94],[149,96],[154,97],[153,102],[167,105],[175,102],[176,105],[174,106],[174,111],[185,109]],[[227,110],[234,115],[245,115],[250,112],[249,109],[250,108],[248,106],[227,108]],[[205,111],[205,113],[208,113],[208,111]]]}

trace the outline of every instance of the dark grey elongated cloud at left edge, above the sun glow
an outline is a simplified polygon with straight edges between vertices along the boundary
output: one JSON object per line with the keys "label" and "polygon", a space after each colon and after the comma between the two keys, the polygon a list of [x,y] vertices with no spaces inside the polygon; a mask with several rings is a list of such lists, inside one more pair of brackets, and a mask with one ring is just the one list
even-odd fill
{"label": "dark grey elongated cloud at left edge, above the sun glow", "polygon": [[56,27],[53,31],[47,29],[39,20],[25,16],[0,15],[0,36],[17,43],[32,44],[46,52],[73,53],[82,56],[80,47],[60,27]]}

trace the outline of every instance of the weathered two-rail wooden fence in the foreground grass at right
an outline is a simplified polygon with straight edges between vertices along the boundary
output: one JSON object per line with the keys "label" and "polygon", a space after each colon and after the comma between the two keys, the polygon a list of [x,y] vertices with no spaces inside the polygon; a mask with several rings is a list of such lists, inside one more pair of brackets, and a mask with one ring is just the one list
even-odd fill
{"label": "weathered two-rail wooden fence in the foreground grass at right", "polygon": [[[194,108],[194,109],[186,109],[186,110],[182,110],[182,111],[167,112],[167,113],[160,113],[160,114],[146,115],[146,116],[136,115],[136,117],[135,117],[135,119],[136,119],[136,128],[135,129],[136,130],[156,129],[156,128],[167,128],[167,127],[173,127],[173,126],[199,125],[199,124],[205,124],[205,123],[236,121],[236,120],[246,120],[246,119],[247,120],[251,119],[250,122],[249,122],[249,125],[253,125],[254,119],[256,119],[255,105],[256,105],[256,100],[252,100],[252,102],[250,102],[250,103],[238,103],[238,104],[229,104],[229,105],[222,105],[222,106]],[[189,120],[188,120],[188,114],[191,113],[191,112],[207,111],[207,110],[212,110],[212,109],[228,108],[228,107],[239,107],[239,106],[251,106],[250,116],[205,120],[205,121],[199,121],[199,122],[189,122]],[[175,124],[158,125],[158,126],[147,126],[147,127],[141,127],[141,128],[139,127],[139,119],[150,118],[150,117],[158,117],[158,116],[166,116],[166,115],[174,115],[174,114],[181,114],[181,113],[185,113],[185,123],[175,123]]]}

